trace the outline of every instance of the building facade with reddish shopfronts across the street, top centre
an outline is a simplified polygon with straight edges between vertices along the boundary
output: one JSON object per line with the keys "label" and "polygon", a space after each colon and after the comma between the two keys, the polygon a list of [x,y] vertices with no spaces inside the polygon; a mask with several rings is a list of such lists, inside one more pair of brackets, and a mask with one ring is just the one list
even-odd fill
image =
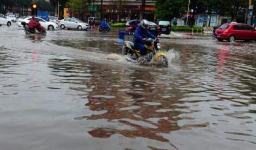
{"label": "building facade with reddish shopfronts across the street, top centre", "polygon": [[[146,0],[144,19],[155,20],[155,0]],[[102,12],[101,12],[102,10]],[[106,18],[108,20],[132,20],[143,18],[142,0],[90,0],[87,5],[90,16]]]}

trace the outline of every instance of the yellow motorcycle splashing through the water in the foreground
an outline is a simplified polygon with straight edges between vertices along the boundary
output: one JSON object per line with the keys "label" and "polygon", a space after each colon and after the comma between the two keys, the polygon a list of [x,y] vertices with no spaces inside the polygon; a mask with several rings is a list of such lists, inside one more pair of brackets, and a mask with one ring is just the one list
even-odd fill
{"label": "yellow motorcycle splashing through the water in the foreground", "polygon": [[130,56],[126,57],[128,62],[140,63],[140,64],[149,64],[153,63],[156,65],[168,66],[168,60],[166,57],[166,52],[161,49],[159,39],[153,40],[148,38],[145,40],[146,54],[141,56],[140,50],[137,50],[134,47],[134,43],[130,41],[125,41],[123,45],[123,54]]}

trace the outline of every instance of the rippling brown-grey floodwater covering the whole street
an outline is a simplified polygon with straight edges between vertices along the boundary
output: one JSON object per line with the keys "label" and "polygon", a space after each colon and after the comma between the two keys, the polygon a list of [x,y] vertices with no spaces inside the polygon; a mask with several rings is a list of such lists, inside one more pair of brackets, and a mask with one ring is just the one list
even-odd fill
{"label": "rippling brown-grey floodwater covering the whole street", "polygon": [[127,63],[116,32],[0,35],[0,150],[256,148],[256,43],[174,34],[158,68]]}

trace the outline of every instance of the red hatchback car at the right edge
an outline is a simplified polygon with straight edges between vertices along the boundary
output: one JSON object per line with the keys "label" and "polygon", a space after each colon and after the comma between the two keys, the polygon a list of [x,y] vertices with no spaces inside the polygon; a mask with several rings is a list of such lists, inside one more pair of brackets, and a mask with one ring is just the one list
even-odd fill
{"label": "red hatchback car at the right edge", "polygon": [[214,33],[218,41],[228,40],[229,42],[235,40],[255,40],[256,29],[247,24],[223,24]]}

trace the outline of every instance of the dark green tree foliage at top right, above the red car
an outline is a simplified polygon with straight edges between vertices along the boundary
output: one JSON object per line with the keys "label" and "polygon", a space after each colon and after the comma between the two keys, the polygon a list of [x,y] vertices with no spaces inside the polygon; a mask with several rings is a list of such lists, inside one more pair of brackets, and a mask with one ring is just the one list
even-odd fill
{"label": "dark green tree foliage at top right, above the red car", "polygon": [[[186,14],[189,0],[158,0],[156,3],[158,19],[179,18]],[[244,14],[249,0],[190,0],[190,9],[195,13],[208,13],[221,11],[222,14],[230,14],[232,20],[238,15]],[[256,6],[256,0],[252,0]],[[245,8],[245,9],[244,9]]]}

